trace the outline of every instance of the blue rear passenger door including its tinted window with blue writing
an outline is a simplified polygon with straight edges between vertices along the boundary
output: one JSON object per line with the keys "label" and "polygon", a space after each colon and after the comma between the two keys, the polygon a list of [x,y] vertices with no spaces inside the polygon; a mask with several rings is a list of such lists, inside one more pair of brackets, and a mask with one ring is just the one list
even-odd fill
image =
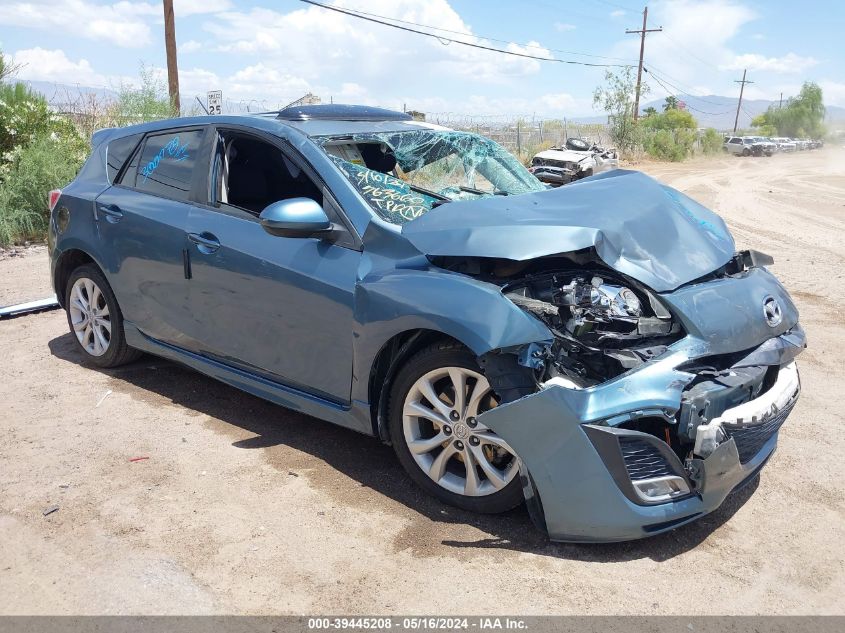
{"label": "blue rear passenger door including its tinted window with blue writing", "polygon": [[194,126],[147,134],[95,200],[102,263],[124,318],[152,338],[183,346],[185,226],[192,189],[205,180],[194,169],[205,133]]}

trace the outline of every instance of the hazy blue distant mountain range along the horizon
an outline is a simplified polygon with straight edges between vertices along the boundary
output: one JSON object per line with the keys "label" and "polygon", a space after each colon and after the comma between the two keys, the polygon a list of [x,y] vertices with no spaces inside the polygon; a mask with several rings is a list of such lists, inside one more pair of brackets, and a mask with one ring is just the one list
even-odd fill
{"label": "hazy blue distant mountain range along the horizon", "polygon": [[[98,100],[111,100],[117,96],[115,90],[106,88],[94,88],[90,86],[56,84],[47,81],[21,80],[33,91],[40,92],[57,110],[67,109],[78,103],[81,98],[92,95]],[[686,108],[698,120],[700,127],[714,127],[717,130],[733,129],[734,117],[736,116],[737,97],[722,97],[719,95],[707,95],[704,97],[685,96],[682,101]],[[185,103],[183,101],[183,103]],[[739,127],[751,127],[751,119],[762,114],[773,101],[765,99],[743,99],[742,109],[739,113]],[[655,99],[641,104],[641,109],[652,107],[658,112],[663,111],[663,99]],[[604,115],[588,117],[571,117],[569,120],[575,123],[604,123],[607,117]],[[845,108],[839,106],[827,106],[825,121],[828,124],[845,124]]]}

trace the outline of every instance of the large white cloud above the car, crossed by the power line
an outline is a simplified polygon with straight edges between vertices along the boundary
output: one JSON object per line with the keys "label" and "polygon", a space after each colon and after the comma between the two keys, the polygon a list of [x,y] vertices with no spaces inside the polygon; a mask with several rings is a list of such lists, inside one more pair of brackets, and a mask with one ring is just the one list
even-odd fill
{"label": "large white cloud above the car, crossed by the power line", "polygon": [[[335,0],[344,6],[343,0]],[[356,5],[360,6],[360,5]],[[453,39],[499,47],[480,40],[447,0],[371,0],[367,10],[401,20],[457,31]],[[283,13],[272,9],[227,11],[204,23],[219,50],[260,56],[268,66],[296,68],[297,74],[389,81],[409,73],[449,72],[475,81],[503,82],[537,73],[540,62],[424,38],[318,7]],[[537,42],[510,45],[513,52],[549,57]],[[327,73],[328,70],[328,73]]]}

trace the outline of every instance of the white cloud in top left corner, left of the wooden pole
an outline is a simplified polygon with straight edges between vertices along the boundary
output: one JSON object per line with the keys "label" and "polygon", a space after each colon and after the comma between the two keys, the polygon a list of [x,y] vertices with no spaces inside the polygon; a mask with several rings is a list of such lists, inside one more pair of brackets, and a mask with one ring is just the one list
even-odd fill
{"label": "white cloud in top left corner, left of the wooden pole", "polygon": [[95,5],[83,0],[46,0],[11,2],[0,6],[0,23],[50,29],[65,36],[78,35],[127,48],[139,48],[151,42],[150,28],[144,15],[151,5],[119,2]]}

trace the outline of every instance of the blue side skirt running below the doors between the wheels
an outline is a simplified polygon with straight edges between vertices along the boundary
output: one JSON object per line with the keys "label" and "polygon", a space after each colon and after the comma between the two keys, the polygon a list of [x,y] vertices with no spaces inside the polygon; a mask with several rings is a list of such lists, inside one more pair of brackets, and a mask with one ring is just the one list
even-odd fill
{"label": "blue side skirt running below the doors between the wheels", "polygon": [[180,363],[286,409],[320,418],[359,433],[373,434],[369,403],[355,400],[351,405],[338,404],[150,338],[129,321],[123,322],[123,329],[130,347]]}

